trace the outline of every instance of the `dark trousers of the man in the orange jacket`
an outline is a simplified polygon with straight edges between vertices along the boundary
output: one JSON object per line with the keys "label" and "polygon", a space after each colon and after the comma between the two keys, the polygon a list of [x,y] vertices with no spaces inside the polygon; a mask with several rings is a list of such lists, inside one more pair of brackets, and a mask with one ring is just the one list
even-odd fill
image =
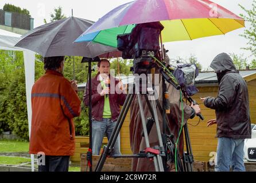
{"label": "dark trousers of the man in the orange jacket", "polygon": [[68,172],[68,166],[69,156],[38,156],[38,172]]}

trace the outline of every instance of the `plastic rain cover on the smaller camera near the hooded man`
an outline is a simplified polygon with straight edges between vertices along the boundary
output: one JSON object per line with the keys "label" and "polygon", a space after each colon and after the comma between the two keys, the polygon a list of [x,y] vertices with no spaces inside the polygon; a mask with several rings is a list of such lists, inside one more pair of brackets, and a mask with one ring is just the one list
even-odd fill
{"label": "plastic rain cover on the smaller camera near the hooded man", "polygon": [[180,86],[183,87],[188,96],[193,96],[199,90],[195,86],[195,78],[199,74],[199,70],[195,64],[178,65],[173,75],[176,77]]}

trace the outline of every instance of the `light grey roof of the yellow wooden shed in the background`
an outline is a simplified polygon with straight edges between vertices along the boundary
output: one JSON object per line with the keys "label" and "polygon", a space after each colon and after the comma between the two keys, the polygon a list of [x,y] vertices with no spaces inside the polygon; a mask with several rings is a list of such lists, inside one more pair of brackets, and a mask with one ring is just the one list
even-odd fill
{"label": "light grey roof of the yellow wooden shed in the background", "polygon": [[[239,70],[239,74],[247,81],[251,81],[256,79],[256,70]],[[118,77],[119,78],[119,77]],[[123,84],[134,83],[134,76],[121,76],[121,81]],[[80,83],[78,86],[79,91],[84,91],[86,87],[86,82]],[[218,86],[218,79],[216,73],[214,72],[202,72],[196,77],[196,86],[204,87],[204,86]]]}

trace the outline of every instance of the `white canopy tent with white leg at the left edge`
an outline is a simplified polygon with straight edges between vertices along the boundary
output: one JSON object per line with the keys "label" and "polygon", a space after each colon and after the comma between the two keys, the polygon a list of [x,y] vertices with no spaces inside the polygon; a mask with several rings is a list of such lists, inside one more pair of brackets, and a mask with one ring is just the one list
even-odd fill
{"label": "white canopy tent with white leg at the left edge", "polygon": [[[0,50],[23,51],[26,81],[26,104],[28,108],[29,137],[32,120],[31,90],[34,84],[35,53],[30,50],[14,47],[20,41],[21,35],[0,29]],[[34,172],[34,155],[31,154],[32,172]]]}

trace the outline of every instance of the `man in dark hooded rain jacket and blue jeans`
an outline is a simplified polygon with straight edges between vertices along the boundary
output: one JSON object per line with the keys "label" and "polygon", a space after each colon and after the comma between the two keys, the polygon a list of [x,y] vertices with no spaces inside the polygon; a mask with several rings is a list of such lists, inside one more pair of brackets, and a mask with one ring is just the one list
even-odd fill
{"label": "man in dark hooded rain jacket and blue jeans", "polygon": [[210,67],[218,77],[218,96],[201,100],[216,113],[216,119],[207,122],[207,126],[217,124],[215,171],[227,172],[230,166],[234,171],[245,171],[243,146],[245,138],[251,138],[247,84],[226,53],[217,55]]}

